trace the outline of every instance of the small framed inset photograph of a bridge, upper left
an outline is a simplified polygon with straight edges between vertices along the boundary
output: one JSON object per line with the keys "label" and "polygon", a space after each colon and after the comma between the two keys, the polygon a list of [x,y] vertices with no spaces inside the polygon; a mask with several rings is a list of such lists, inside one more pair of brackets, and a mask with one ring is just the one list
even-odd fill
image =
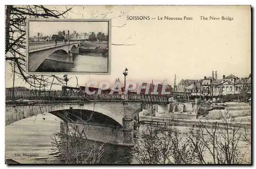
{"label": "small framed inset photograph of a bridge, upper left", "polygon": [[28,19],[27,73],[110,74],[110,19]]}

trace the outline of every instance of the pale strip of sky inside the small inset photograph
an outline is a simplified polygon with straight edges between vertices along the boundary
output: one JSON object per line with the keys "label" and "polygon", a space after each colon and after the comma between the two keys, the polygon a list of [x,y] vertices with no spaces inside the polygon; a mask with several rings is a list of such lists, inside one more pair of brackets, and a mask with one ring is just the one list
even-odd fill
{"label": "pale strip of sky inside the small inset photograph", "polygon": [[68,34],[74,31],[77,33],[103,32],[108,34],[108,22],[66,22],[66,21],[30,21],[29,36],[37,37],[39,32],[43,36],[58,35],[59,31],[65,31]]}

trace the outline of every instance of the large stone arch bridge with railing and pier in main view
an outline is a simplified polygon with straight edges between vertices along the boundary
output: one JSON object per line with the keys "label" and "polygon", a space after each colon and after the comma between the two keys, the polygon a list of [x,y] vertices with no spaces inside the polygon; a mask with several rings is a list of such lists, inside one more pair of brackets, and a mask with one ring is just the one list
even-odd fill
{"label": "large stone arch bridge with railing and pier in main view", "polygon": [[[12,100],[11,100],[12,98]],[[113,94],[87,97],[86,95],[67,97],[67,90],[36,91],[25,90],[12,94],[6,90],[6,125],[45,112],[59,117],[65,123],[82,127],[89,124],[87,138],[99,142],[133,146],[134,120],[146,104],[166,105],[166,96]],[[89,123],[88,123],[89,122]],[[60,130],[63,131],[61,123]]]}

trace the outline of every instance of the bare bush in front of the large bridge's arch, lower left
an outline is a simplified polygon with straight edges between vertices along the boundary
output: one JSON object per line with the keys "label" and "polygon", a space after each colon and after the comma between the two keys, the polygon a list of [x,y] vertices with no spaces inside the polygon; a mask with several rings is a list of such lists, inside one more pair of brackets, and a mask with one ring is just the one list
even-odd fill
{"label": "bare bush in front of the large bridge's arch, lower left", "polygon": [[[82,113],[81,113],[82,115]],[[66,119],[62,124],[62,132],[52,137],[53,149],[59,153],[60,161],[57,163],[66,164],[98,164],[104,153],[104,145],[89,143],[87,140],[86,130],[93,113],[83,124],[69,121],[69,112],[64,111],[63,117]],[[81,118],[81,117],[80,117]],[[78,125],[83,125],[79,129]]]}

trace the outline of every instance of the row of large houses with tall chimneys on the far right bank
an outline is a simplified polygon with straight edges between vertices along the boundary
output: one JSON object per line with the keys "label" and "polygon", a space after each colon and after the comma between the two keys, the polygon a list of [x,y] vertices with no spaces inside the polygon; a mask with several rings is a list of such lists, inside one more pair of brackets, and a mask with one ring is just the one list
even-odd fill
{"label": "row of large houses with tall chimneys on the far right bank", "polygon": [[233,74],[223,75],[218,79],[217,71],[204,79],[182,79],[177,86],[177,98],[188,96],[220,96],[229,94],[251,93],[251,76],[239,78]]}

